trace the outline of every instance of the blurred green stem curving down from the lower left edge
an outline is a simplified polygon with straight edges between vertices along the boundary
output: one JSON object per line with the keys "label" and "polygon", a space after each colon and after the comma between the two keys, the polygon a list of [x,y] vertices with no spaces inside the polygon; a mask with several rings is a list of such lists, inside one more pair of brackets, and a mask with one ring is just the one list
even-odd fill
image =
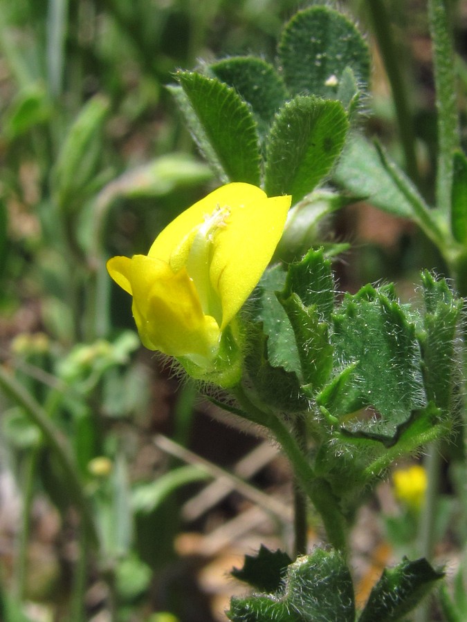
{"label": "blurred green stem curving down from the lower left edge", "polygon": [[0,366],[0,388],[13,402],[24,408],[24,411],[28,413],[31,420],[42,432],[44,441],[59,462],[64,480],[68,482],[68,491],[80,513],[82,525],[86,529],[89,540],[93,545],[98,545],[98,531],[95,527],[93,513],[82,488],[76,466],[71,459],[73,452],[66,438],[53,426],[44,408],[36,402],[28,390],[7,373],[2,366]]}

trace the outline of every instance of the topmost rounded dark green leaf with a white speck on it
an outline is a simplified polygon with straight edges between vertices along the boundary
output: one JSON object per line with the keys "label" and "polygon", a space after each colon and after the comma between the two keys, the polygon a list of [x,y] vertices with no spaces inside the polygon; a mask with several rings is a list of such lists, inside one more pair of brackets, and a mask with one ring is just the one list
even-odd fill
{"label": "topmost rounded dark green leaf with a white speck on it", "polygon": [[367,44],[347,17],[327,6],[297,12],[284,28],[279,55],[293,94],[335,99],[348,66],[359,84],[369,82]]}

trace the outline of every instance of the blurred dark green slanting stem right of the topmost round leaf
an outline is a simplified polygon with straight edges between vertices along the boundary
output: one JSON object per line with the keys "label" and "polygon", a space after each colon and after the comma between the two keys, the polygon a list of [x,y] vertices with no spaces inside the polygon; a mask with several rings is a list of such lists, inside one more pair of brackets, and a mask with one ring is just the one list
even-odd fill
{"label": "blurred dark green slanting stem right of the topmost round leaf", "polygon": [[396,45],[390,24],[390,16],[384,0],[366,0],[367,10],[385,64],[387,78],[391,84],[392,98],[399,124],[399,136],[405,156],[405,169],[410,178],[419,184],[419,169],[415,153],[415,133],[412,114],[408,103],[407,88],[401,72],[401,53]]}

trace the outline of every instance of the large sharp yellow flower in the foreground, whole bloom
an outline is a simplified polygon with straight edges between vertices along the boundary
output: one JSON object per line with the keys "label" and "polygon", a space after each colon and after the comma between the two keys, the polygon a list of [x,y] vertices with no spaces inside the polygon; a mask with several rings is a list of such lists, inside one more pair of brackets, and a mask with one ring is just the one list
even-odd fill
{"label": "large sharp yellow flower in the foreground, whole bloom", "polygon": [[109,274],[133,296],[143,344],[204,369],[271,261],[290,196],[232,183],[184,211],[149,253],[113,257]]}

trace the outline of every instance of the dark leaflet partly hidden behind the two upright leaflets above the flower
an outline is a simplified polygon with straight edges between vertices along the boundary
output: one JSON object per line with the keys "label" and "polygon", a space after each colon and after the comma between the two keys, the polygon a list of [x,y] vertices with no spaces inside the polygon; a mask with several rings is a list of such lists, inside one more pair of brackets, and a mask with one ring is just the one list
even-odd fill
{"label": "dark leaflet partly hidden behind the two upright leaflets above the flower", "polygon": [[245,56],[223,59],[210,65],[209,70],[250,104],[259,133],[264,135],[287,97],[275,68],[261,58]]}

